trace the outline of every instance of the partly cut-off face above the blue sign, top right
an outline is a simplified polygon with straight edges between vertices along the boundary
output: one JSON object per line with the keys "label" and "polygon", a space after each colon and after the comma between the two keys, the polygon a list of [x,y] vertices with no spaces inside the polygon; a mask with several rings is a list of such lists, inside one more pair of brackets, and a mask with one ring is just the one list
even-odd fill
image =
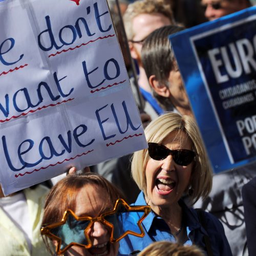
{"label": "partly cut-off face above the blue sign, top right", "polygon": [[205,7],[204,15],[209,20],[220,18],[247,7],[246,1],[243,0],[202,0],[201,3]]}

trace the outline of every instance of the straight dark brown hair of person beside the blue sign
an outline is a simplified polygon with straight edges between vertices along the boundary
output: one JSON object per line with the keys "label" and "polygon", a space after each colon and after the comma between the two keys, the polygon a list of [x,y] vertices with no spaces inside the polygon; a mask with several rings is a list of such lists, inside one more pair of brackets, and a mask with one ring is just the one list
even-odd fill
{"label": "straight dark brown hair of person beside the blue sign", "polygon": [[[147,36],[142,46],[141,59],[148,79],[155,75],[158,82],[167,86],[169,72],[177,65],[168,36],[182,30],[183,27],[169,25],[156,29]],[[173,108],[173,105],[168,98],[158,95],[155,91],[153,94],[164,110],[172,110],[170,108]]]}

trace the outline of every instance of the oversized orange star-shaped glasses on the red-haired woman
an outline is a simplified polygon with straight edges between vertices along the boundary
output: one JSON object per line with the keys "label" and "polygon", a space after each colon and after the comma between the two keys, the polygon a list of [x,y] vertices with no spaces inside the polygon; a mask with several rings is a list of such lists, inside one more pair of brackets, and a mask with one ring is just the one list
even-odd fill
{"label": "oversized orange star-shaped glasses on the red-haired woman", "polygon": [[[120,231],[120,215],[130,211],[142,212],[142,217],[135,220],[135,224],[139,227],[139,232],[133,230]],[[143,237],[145,233],[141,222],[150,211],[150,206],[129,206],[123,199],[118,199],[112,211],[105,212],[95,218],[90,216],[77,217],[72,210],[66,210],[60,222],[42,227],[41,234],[57,241],[57,254],[64,253],[73,245],[88,249],[92,247],[88,230],[92,227],[94,222],[101,222],[108,227],[110,230],[110,242],[114,243],[124,238],[127,234]]]}

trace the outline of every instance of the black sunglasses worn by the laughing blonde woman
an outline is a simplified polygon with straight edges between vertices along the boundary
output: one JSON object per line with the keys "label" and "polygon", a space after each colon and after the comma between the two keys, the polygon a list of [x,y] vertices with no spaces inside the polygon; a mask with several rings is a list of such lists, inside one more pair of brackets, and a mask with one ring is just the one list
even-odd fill
{"label": "black sunglasses worn by the laughing blonde woman", "polygon": [[169,150],[168,147],[148,142],[148,154],[154,160],[160,161],[165,159],[168,155],[172,155],[174,162],[178,165],[187,166],[195,158],[195,152],[191,150]]}

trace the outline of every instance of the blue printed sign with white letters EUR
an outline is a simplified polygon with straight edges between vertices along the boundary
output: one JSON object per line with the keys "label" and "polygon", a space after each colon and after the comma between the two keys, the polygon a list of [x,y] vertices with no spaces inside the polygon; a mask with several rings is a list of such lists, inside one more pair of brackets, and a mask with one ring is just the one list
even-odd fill
{"label": "blue printed sign with white letters EUR", "polygon": [[170,36],[212,167],[256,160],[256,8]]}

